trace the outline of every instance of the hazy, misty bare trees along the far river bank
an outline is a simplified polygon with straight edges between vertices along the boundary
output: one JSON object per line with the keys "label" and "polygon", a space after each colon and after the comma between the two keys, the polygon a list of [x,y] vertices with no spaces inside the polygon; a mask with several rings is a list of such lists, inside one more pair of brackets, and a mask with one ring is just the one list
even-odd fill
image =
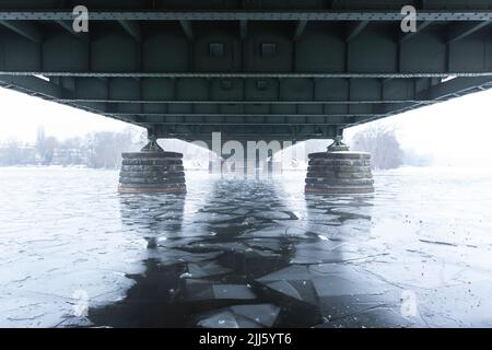
{"label": "hazy, misty bare trees along the far river bank", "polygon": [[[82,138],[58,140],[39,128],[36,142],[25,144],[17,140],[0,143],[0,166],[13,165],[82,165],[92,168],[118,168],[121,153],[140,150],[147,143],[143,129],[128,127],[121,132],[99,131]],[[191,166],[207,168],[209,154],[204,149],[179,140],[165,140],[166,150],[184,153],[184,161]],[[326,151],[330,142],[311,140],[304,144],[305,155]],[[378,170],[397,168],[402,165],[425,166],[432,160],[402,150],[395,129],[383,125],[368,125],[351,140],[352,151],[372,154],[372,165]],[[298,153],[298,152],[297,152]],[[300,154],[293,154],[296,158]]]}

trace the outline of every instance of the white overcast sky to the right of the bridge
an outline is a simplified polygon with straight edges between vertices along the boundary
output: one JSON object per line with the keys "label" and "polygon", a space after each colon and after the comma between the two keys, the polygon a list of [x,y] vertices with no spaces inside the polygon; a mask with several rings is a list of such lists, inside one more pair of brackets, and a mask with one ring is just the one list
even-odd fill
{"label": "white overcast sky to the right of the bridge", "polygon": [[376,122],[394,126],[403,149],[430,154],[442,165],[492,164],[492,90]]}

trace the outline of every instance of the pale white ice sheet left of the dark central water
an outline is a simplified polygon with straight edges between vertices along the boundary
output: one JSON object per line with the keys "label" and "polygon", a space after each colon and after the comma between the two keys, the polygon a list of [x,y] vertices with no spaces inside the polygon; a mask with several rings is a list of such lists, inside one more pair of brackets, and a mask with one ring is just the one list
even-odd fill
{"label": "pale white ice sheet left of the dark central water", "polygon": [[2,206],[0,226],[15,222],[22,234],[2,231],[0,256],[9,264],[0,262],[0,326],[52,327],[73,314],[79,290],[90,305],[125,295],[132,283],[125,275],[143,270],[145,241],[121,223],[118,197],[108,186],[114,175],[26,168],[1,186],[10,203]]}

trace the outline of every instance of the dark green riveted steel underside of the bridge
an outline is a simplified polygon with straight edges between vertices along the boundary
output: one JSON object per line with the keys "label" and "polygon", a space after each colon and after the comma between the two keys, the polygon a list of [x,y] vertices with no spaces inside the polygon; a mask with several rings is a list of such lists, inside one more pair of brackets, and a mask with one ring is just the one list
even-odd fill
{"label": "dark green riveted steel underside of the bridge", "polygon": [[0,0],[0,85],[159,138],[326,139],[491,88],[490,24],[490,0]]}

